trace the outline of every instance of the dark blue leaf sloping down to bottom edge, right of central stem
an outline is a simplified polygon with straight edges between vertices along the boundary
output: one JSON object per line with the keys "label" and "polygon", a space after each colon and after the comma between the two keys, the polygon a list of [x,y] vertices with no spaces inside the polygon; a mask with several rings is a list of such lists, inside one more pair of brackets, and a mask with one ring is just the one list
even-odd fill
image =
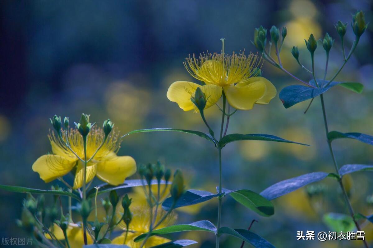
{"label": "dark blue leaf sloping down to bottom edge, right of central stem", "polygon": [[257,248],[275,248],[270,242],[266,241],[256,233],[247,231],[245,229],[232,229],[229,227],[222,227],[218,231],[218,235],[228,234],[239,238]]}

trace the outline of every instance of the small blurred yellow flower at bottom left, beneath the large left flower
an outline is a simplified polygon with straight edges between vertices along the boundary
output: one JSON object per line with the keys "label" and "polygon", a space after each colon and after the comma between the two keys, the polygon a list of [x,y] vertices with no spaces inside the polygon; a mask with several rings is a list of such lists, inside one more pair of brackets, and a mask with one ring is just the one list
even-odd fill
{"label": "small blurred yellow flower at bottom left, beneath the large left flower", "polygon": [[[50,229],[53,235],[58,240],[65,240],[62,229],[56,224],[53,224],[53,229]],[[82,248],[84,245],[83,228],[75,223],[69,223],[66,229],[66,235],[68,237],[70,248]],[[48,239],[51,239],[49,234],[46,234]],[[93,244],[93,239],[87,232],[87,244]]]}

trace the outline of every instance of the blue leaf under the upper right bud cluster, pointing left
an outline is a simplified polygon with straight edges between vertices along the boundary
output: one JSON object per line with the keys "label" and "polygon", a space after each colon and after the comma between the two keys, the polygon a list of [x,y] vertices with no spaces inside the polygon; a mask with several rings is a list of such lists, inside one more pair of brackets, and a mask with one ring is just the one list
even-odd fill
{"label": "blue leaf under the upper right bud cluster, pointing left", "polygon": [[[320,96],[333,86],[336,86],[337,84],[341,83],[333,81],[328,86],[323,87],[323,85],[326,85],[329,81],[317,79],[317,82],[321,86],[320,88],[312,88],[298,84],[283,88],[279,94],[283,106],[287,109],[288,107],[291,107],[294,104],[304,102],[305,100]],[[310,84],[315,86],[314,80],[311,80]]]}

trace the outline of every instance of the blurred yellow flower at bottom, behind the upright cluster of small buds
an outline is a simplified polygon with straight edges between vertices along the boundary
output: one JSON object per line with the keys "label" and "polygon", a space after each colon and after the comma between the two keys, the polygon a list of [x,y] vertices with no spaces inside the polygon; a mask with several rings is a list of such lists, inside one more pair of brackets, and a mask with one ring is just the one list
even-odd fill
{"label": "blurred yellow flower at bottom, behind the upright cluster of small buds", "polygon": [[[144,233],[149,232],[149,225],[150,225],[150,209],[148,205],[137,206],[131,208],[133,213],[132,221],[129,223],[128,227],[128,236],[125,241],[126,232],[123,232],[122,235],[116,237],[112,240],[112,244],[117,245],[128,245],[131,248],[141,248],[142,241],[134,242],[134,239]],[[162,209],[158,210],[157,220],[156,223],[162,219],[162,217],[166,214],[166,212]],[[120,213],[122,215],[122,213]],[[153,211],[154,216],[154,211]],[[176,216],[171,214],[169,215],[156,229],[164,228],[166,226],[172,225],[175,223]],[[122,221],[118,225],[123,230],[126,230],[126,225]],[[169,239],[162,238],[160,236],[151,236],[147,242],[145,243],[145,248],[153,247],[156,245],[161,245],[164,243],[170,242]]]}

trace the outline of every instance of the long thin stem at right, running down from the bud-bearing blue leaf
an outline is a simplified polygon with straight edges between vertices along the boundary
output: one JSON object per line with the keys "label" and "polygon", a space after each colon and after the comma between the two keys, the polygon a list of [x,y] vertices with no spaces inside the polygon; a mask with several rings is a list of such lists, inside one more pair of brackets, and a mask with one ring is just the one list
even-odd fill
{"label": "long thin stem at right, running down from the bud-bearing blue leaf", "polygon": [[[334,152],[333,152],[332,142],[329,141],[329,139],[327,138],[327,135],[328,135],[328,133],[329,133],[329,128],[328,128],[328,125],[327,125],[327,119],[326,119],[326,112],[325,112],[325,104],[324,104],[324,97],[323,97],[323,94],[320,95],[320,99],[321,99],[321,106],[322,106],[322,110],[323,110],[323,117],[324,117],[324,124],[325,124],[326,139],[327,139],[327,143],[328,143],[328,146],[329,146],[330,155],[332,156],[332,159],[333,159],[333,164],[334,164],[334,167],[335,167],[335,171],[336,171],[336,174],[338,175],[338,183],[339,183],[339,186],[341,186],[342,193],[343,193],[343,195],[344,195],[344,198],[345,198],[346,204],[347,204],[347,206],[348,206],[348,211],[350,212],[350,215],[351,215],[352,219],[354,220],[355,226],[356,226],[356,228],[357,228],[358,231],[361,231],[360,225],[359,225],[359,223],[357,222],[357,220],[355,219],[354,209],[352,208],[352,205],[351,205],[350,199],[348,198],[347,192],[346,192],[346,190],[345,190],[345,188],[344,188],[344,186],[343,186],[342,178],[341,178],[341,174],[339,174],[338,164],[337,164],[337,161],[336,161],[336,158],[335,158]],[[367,244],[367,242],[365,241],[365,239],[363,240],[363,242],[364,242],[365,247],[368,248],[368,244]]]}

